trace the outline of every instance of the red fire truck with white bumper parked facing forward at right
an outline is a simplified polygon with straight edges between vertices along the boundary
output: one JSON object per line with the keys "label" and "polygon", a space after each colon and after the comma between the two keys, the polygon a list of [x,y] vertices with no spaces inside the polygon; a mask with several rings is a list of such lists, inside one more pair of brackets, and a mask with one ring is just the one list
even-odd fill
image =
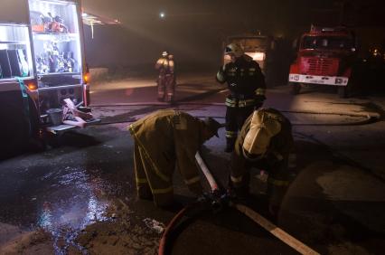
{"label": "red fire truck with white bumper parked facing forward at right", "polygon": [[290,66],[289,84],[298,94],[303,85],[322,84],[338,87],[346,98],[352,88],[352,64],[356,59],[355,36],[344,27],[312,26],[301,36],[299,49]]}

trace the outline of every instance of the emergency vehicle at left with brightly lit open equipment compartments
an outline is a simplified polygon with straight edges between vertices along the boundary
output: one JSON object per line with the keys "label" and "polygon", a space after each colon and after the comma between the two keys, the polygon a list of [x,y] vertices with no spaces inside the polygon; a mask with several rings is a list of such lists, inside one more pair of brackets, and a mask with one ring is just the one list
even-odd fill
{"label": "emergency vehicle at left with brightly lit open equipment compartments", "polygon": [[41,130],[74,128],[49,118],[63,99],[90,110],[80,5],[80,0],[1,0],[0,135],[7,147]]}

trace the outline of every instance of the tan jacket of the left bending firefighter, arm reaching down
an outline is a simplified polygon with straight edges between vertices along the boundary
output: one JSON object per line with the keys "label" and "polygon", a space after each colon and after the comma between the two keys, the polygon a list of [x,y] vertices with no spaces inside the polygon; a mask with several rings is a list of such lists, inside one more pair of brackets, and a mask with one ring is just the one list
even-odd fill
{"label": "tan jacket of the left bending firefighter, arm reaching down", "polygon": [[195,154],[207,139],[202,135],[204,128],[202,120],[173,109],[155,111],[128,127],[155,174],[171,183],[176,162],[184,182],[195,194],[202,193]]}

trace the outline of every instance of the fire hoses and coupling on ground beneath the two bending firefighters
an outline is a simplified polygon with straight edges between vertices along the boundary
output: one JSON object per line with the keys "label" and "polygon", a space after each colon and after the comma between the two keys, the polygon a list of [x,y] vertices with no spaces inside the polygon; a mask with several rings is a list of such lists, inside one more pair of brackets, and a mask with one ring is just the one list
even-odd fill
{"label": "fire hoses and coupling on ground beneath the two bending firefighters", "polygon": [[[253,222],[258,223],[259,226],[267,230],[269,233],[277,237],[280,241],[283,241],[286,243],[286,245],[290,246],[294,250],[298,251],[300,254],[319,254],[317,251],[311,249],[305,243],[297,240],[295,237],[287,233],[286,231],[283,231],[277,225],[275,225],[273,222],[269,222],[268,219],[260,215],[259,213],[253,211],[250,209],[248,206],[241,204],[241,203],[233,203],[226,197],[226,194],[221,194],[221,190],[215,181],[215,178],[213,175],[211,175],[211,172],[209,168],[204,164],[202,160],[202,156],[197,152],[195,155],[196,161],[198,165],[200,166],[203,175],[206,177],[208,183],[210,184],[211,187],[211,194],[214,194],[213,197],[216,198],[214,199],[211,203],[217,203],[217,206],[221,207],[221,203],[227,203],[230,205],[230,207],[237,209],[240,213],[245,214],[246,216],[249,217]],[[195,206],[196,203],[191,203],[185,206],[179,213],[177,213],[174,218],[172,219],[171,222],[167,225],[166,229],[164,230],[162,239],[159,243],[159,250],[158,254],[159,255],[164,255],[167,254],[167,244],[170,238],[170,235],[172,231],[174,231],[175,226],[177,225],[178,222],[180,222],[187,213],[187,211]],[[215,205],[215,204],[214,204]]]}

